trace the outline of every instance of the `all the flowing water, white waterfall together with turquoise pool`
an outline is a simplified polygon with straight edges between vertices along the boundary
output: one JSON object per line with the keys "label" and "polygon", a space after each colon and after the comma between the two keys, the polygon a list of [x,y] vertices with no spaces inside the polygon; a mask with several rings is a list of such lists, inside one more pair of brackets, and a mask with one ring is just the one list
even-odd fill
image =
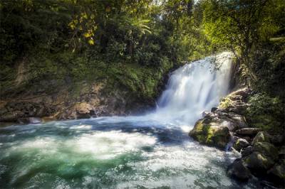
{"label": "all the flowing water, white waterfall together with turquoise pool", "polygon": [[150,114],[0,126],[0,188],[261,188],[227,177],[238,154],[188,136],[229,92],[232,56],[213,60],[172,72]]}

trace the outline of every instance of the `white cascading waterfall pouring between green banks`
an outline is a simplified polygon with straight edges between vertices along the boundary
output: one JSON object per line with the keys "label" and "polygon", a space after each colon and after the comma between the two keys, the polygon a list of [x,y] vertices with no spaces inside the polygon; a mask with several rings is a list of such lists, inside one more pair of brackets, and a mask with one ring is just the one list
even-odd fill
{"label": "white cascading waterfall pouring between green banks", "polygon": [[157,102],[155,117],[194,124],[229,92],[232,53],[188,63],[170,75]]}

